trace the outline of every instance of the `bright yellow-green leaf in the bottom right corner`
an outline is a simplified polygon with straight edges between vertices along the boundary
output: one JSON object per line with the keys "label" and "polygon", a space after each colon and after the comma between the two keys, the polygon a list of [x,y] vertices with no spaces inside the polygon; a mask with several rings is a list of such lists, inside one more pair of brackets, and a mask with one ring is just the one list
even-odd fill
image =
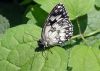
{"label": "bright yellow-green leaf in the bottom right corner", "polygon": [[[98,43],[100,45],[100,42]],[[76,45],[71,50],[69,67],[72,71],[99,71],[100,49],[83,44]]]}

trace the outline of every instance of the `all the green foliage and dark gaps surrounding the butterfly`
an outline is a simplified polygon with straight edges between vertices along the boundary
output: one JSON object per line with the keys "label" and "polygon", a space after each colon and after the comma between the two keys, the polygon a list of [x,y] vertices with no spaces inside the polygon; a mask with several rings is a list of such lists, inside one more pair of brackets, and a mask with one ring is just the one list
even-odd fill
{"label": "all the green foliage and dark gaps surrounding the butterfly", "polygon": [[[37,52],[41,28],[58,3],[68,11],[73,37]],[[0,71],[100,71],[100,0],[1,0]]]}

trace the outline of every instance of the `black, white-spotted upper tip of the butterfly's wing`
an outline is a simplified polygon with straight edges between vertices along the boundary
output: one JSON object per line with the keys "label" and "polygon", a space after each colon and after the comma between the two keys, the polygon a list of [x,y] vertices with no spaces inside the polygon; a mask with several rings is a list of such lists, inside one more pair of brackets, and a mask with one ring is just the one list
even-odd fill
{"label": "black, white-spotted upper tip of the butterfly's wing", "polygon": [[[57,22],[56,17],[57,17],[58,15],[61,15],[60,18],[69,19],[69,16],[67,16],[67,13],[66,13],[66,10],[65,10],[63,4],[57,4],[57,5],[52,9],[52,11],[51,11],[51,13],[50,13],[50,15],[49,15],[49,17],[48,17],[48,19],[47,19],[47,21],[49,21],[48,24],[49,24],[49,25],[52,25],[52,24],[54,24],[55,22]],[[51,20],[51,19],[50,19],[51,17],[55,17],[55,19],[54,19],[54,20]],[[47,24],[47,25],[48,25],[48,24]]]}

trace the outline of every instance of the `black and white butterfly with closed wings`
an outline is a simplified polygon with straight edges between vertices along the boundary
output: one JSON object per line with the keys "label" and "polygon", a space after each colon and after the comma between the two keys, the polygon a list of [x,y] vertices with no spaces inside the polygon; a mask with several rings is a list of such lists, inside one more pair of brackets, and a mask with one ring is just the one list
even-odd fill
{"label": "black and white butterfly with closed wings", "polygon": [[42,28],[40,48],[61,44],[71,38],[73,25],[63,4],[57,4],[49,14]]}

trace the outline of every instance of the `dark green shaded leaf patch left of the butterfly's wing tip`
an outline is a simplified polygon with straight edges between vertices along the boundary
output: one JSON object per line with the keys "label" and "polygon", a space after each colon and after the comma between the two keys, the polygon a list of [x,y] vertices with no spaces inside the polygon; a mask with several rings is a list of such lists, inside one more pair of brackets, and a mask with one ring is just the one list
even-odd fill
{"label": "dark green shaded leaf patch left of the butterfly's wing tip", "polygon": [[43,9],[41,9],[40,5],[35,5],[34,10],[31,12],[36,20],[36,25],[38,25],[39,27],[42,27],[48,16],[48,13],[44,11]]}

